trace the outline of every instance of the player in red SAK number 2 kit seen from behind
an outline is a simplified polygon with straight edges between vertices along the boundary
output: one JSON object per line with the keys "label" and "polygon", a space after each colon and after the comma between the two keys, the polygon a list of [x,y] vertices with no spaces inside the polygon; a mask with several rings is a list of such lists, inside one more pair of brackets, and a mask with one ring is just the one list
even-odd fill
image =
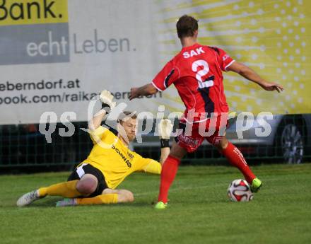
{"label": "player in red SAK number 2 kit seen from behind", "polygon": [[[177,21],[177,35],[182,50],[177,54],[152,83],[140,88],[131,88],[130,99],[140,95],[151,95],[164,91],[174,83],[186,106],[180,120],[182,134],[176,137],[170,156],[163,164],[157,209],[164,209],[168,202],[168,190],[177,173],[180,160],[187,152],[195,151],[206,139],[237,167],[250,183],[251,190],[257,192],[262,186],[247,165],[242,153],[225,137],[228,118],[228,104],[223,91],[223,71],[235,71],[246,79],[262,86],[266,91],[281,92],[283,87],[262,79],[252,69],[235,62],[218,47],[200,45],[196,42],[198,21],[192,16],[182,16]],[[208,131],[206,134],[205,131]]]}

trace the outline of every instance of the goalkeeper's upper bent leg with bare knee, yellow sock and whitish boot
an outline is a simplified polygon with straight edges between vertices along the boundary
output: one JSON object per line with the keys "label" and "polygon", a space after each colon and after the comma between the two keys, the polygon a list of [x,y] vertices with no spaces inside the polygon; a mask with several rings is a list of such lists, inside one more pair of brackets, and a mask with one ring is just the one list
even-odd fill
{"label": "goalkeeper's upper bent leg with bare knee, yellow sock and whitish boot", "polygon": [[60,197],[79,197],[92,194],[98,185],[98,180],[94,175],[83,175],[81,180],[70,180],[60,182],[49,187],[40,187],[38,190],[28,192],[18,199],[16,202],[18,207],[26,206],[37,199],[46,196]]}

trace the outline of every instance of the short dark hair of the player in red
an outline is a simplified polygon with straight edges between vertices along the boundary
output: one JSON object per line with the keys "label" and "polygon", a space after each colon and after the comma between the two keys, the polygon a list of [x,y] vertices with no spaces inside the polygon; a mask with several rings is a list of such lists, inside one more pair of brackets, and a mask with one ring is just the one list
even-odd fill
{"label": "short dark hair of the player in red", "polygon": [[192,16],[183,15],[177,21],[176,24],[177,35],[181,39],[182,37],[193,37],[194,32],[198,30],[198,21]]}

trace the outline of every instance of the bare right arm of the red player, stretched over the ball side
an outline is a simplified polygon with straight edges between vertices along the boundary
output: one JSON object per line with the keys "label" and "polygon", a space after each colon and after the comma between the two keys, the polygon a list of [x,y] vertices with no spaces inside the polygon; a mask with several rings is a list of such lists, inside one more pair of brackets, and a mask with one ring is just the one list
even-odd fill
{"label": "bare right arm of the red player, stretched over the ball side", "polygon": [[240,76],[243,76],[245,79],[257,83],[266,91],[278,91],[278,93],[280,93],[284,89],[283,86],[279,85],[278,83],[269,82],[265,79],[262,79],[262,77],[259,76],[259,74],[252,70],[249,66],[239,62],[233,62],[233,64],[230,64],[230,66],[227,68],[227,71],[234,71],[235,73],[240,74]]}

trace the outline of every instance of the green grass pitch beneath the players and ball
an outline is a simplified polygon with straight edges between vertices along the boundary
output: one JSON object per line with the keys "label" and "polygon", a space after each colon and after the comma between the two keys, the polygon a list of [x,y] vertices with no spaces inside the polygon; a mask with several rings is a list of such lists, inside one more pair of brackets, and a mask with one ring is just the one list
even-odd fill
{"label": "green grass pitch beneath the players and ball", "polygon": [[0,243],[311,243],[311,164],[253,167],[264,182],[252,202],[230,202],[232,167],[181,167],[170,207],[155,210],[159,176],[137,173],[120,188],[132,204],[55,208],[59,197],[18,208],[16,199],[69,173],[0,177]]}

